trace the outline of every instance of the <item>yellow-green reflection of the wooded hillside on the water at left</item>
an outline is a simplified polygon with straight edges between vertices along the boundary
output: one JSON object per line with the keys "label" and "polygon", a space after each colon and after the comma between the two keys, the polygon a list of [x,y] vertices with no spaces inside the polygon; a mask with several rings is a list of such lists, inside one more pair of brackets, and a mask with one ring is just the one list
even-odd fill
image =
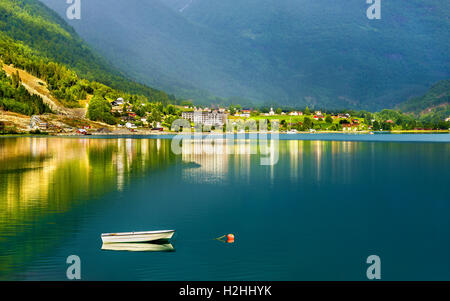
{"label": "yellow-green reflection of the wooded hillside on the water at left", "polygon": [[173,163],[169,142],[0,139],[0,279],[75,232],[77,208]]}

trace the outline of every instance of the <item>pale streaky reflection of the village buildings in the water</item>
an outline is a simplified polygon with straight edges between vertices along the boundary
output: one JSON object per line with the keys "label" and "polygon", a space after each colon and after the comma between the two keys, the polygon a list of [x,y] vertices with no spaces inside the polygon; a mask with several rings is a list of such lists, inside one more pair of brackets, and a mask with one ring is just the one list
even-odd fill
{"label": "pale streaky reflection of the village buildings in the water", "polygon": [[[371,144],[361,144],[350,141],[303,141],[285,140],[274,144],[268,143],[260,151],[258,143],[252,140],[215,143],[202,140],[184,140],[182,145],[182,159],[184,162],[196,164],[193,168],[183,170],[183,179],[196,183],[226,184],[230,169],[232,174],[241,180],[249,179],[252,175],[251,166],[258,169],[265,168],[268,176],[274,180],[276,177],[295,182],[302,178],[313,178],[320,181],[322,170],[331,170],[336,176],[351,177],[352,158],[347,156],[359,148],[367,148]],[[333,160],[339,156],[339,160]],[[261,157],[267,157],[273,164],[260,164]],[[336,159],[336,158],[335,158]],[[254,163],[257,164],[254,164]],[[259,163],[258,163],[259,162]],[[282,168],[277,168],[280,165]],[[279,174],[277,170],[286,171],[289,165],[289,175]]]}

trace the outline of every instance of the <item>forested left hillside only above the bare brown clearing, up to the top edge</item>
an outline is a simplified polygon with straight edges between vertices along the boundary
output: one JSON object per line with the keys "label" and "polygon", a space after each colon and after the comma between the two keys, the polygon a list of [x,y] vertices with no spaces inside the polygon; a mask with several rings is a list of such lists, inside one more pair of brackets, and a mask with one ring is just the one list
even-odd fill
{"label": "forested left hillside only above the bare brown clearing, up to the top edge", "polygon": [[153,102],[174,100],[163,91],[128,80],[37,0],[0,0],[0,35],[4,63],[42,77],[55,96],[69,106],[95,88],[88,87],[87,81],[139,94]]}

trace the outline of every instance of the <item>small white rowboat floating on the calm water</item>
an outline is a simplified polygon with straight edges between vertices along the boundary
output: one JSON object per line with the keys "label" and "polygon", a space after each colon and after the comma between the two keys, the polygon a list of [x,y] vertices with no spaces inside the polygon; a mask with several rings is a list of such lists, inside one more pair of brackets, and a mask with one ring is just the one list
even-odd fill
{"label": "small white rowboat floating on the calm water", "polygon": [[102,241],[103,243],[123,243],[169,240],[174,233],[175,230],[104,233],[102,234]]}

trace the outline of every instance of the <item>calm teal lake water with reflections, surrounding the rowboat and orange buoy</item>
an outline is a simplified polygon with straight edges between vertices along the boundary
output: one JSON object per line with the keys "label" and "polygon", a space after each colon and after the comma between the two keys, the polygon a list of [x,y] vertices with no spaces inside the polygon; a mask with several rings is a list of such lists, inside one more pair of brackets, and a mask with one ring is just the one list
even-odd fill
{"label": "calm teal lake water with reflections, surrounding the rowboat and orange buoy", "polygon": [[[273,166],[249,141],[0,138],[0,279],[66,280],[75,254],[83,280],[365,280],[375,254],[450,280],[449,137],[286,135]],[[160,229],[174,252],[101,249]]]}

